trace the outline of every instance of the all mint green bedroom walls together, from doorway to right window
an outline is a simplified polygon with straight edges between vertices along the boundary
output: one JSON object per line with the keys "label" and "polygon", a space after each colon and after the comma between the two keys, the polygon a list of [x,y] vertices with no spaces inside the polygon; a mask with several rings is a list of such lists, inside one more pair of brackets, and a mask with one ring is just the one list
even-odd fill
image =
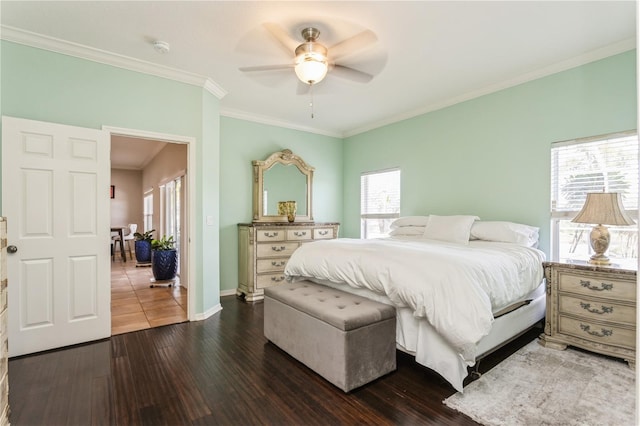
{"label": "all mint green bedroom walls together, from doorway to right window", "polygon": [[550,144],[637,127],[635,51],[342,140],[220,117],[220,102],[195,86],[6,41],[0,49],[2,114],[196,139],[196,313],[237,286],[252,160],[289,148],[315,167],[315,219],[341,222],[340,236],[359,236],[360,173],[400,167],[403,215],[529,223],[548,251]]}

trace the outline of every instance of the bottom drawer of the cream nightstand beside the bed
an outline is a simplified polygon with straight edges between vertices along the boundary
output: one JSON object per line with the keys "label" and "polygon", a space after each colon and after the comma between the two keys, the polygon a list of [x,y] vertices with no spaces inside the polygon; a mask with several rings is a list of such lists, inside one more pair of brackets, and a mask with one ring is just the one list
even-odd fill
{"label": "bottom drawer of the cream nightstand beside the bed", "polygon": [[623,328],[560,316],[558,331],[602,345],[620,346],[628,349],[636,347],[635,327]]}

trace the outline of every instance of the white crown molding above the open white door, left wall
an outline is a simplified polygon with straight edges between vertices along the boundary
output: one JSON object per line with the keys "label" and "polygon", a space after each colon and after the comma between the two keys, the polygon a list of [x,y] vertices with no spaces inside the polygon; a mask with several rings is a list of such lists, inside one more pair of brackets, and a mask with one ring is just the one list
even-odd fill
{"label": "white crown molding above the open white door, left wall", "polygon": [[99,62],[117,68],[136,71],[143,74],[154,75],[169,80],[179,81],[192,86],[202,87],[218,99],[222,99],[227,91],[208,77],[142,61],[129,56],[95,49],[82,44],[62,40],[55,37],[44,36],[42,34],[14,28],[6,25],[0,26],[0,38],[13,43],[24,44],[38,49],[49,50],[64,55]]}

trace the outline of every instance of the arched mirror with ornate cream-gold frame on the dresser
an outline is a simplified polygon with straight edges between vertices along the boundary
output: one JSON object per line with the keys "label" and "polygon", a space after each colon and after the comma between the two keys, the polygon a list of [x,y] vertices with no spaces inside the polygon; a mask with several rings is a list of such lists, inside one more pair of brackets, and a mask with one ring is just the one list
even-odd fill
{"label": "arched mirror with ornate cream-gold frame on the dresser", "polygon": [[295,222],[313,222],[311,187],[314,168],[285,149],[253,161],[253,221],[287,222],[278,202],[295,201]]}

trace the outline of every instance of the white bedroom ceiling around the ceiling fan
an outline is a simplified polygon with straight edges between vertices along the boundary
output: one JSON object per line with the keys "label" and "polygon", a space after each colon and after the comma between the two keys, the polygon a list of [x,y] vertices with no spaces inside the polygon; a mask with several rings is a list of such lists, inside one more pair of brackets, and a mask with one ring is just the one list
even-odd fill
{"label": "white bedroom ceiling around the ceiling fan", "polygon": [[[102,61],[128,66],[134,58],[159,73],[210,79],[214,93],[226,92],[223,115],[338,137],[636,45],[633,1],[2,1],[1,7],[5,39],[77,55],[90,47],[86,56]],[[363,84],[330,73],[314,89],[311,118],[309,95],[296,94],[293,70],[238,70],[292,59],[267,22],[300,41],[303,27],[316,26],[329,47],[369,29],[378,41],[342,62],[376,76]],[[158,39],[170,43],[169,53],[153,49]]]}

